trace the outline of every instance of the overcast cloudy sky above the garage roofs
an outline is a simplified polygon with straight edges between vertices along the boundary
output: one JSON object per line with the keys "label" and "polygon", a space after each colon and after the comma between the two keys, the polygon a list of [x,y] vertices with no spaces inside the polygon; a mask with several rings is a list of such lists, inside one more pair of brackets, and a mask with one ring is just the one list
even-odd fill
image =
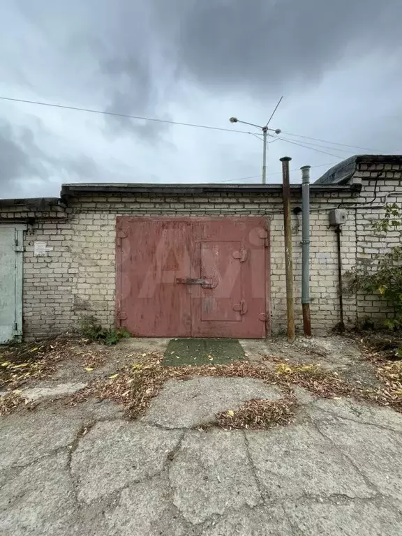
{"label": "overcast cloudy sky above the garage roofs", "polygon": [[262,141],[240,131],[259,131],[228,119],[265,124],[281,96],[269,182],[281,156],[316,179],[352,154],[400,153],[401,20],[401,0],[3,0],[0,97],[233,131],[0,99],[0,198],[258,182]]}

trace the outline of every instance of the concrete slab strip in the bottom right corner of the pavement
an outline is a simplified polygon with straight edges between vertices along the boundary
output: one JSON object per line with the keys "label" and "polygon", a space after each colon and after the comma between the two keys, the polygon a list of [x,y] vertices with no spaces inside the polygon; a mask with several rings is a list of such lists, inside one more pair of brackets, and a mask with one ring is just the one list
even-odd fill
{"label": "concrete slab strip in the bottom right corner of the pavement", "polygon": [[285,502],[286,516],[304,536],[399,536],[402,519],[383,501]]}

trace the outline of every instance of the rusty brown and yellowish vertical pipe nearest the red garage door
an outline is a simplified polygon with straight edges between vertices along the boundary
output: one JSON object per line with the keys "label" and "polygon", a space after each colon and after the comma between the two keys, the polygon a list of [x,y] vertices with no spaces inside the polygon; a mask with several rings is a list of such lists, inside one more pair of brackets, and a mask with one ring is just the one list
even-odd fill
{"label": "rusty brown and yellowish vertical pipe nearest the red garage door", "polygon": [[283,176],[283,223],[285,227],[285,274],[286,274],[286,313],[288,316],[288,340],[295,340],[295,305],[293,299],[293,265],[292,265],[292,222],[290,220],[290,156],[280,158]]}

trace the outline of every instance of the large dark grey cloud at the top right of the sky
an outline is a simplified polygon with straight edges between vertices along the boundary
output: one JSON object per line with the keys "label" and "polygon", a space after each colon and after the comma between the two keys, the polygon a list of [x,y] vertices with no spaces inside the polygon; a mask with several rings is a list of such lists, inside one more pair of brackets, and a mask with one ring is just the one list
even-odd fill
{"label": "large dark grey cloud at the top right of the sky", "polygon": [[[295,93],[341,59],[401,51],[399,0],[156,0],[179,17],[177,61],[202,85],[225,91]],[[174,7],[172,7],[174,6]],[[159,16],[158,16],[159,15]],[[162,15],[162,16],[161,16]]]}

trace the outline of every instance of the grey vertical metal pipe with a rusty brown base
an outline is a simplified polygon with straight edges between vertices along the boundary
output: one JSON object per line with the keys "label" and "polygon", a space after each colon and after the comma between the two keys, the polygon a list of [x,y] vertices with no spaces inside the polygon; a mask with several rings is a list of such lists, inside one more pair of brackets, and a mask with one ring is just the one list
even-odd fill
{"label": "grey vertical metal pipe with a rusty brown base", "polygon": [[301,169],[301,308],[303,331],[311,337],[310,317],[310,166]]}

